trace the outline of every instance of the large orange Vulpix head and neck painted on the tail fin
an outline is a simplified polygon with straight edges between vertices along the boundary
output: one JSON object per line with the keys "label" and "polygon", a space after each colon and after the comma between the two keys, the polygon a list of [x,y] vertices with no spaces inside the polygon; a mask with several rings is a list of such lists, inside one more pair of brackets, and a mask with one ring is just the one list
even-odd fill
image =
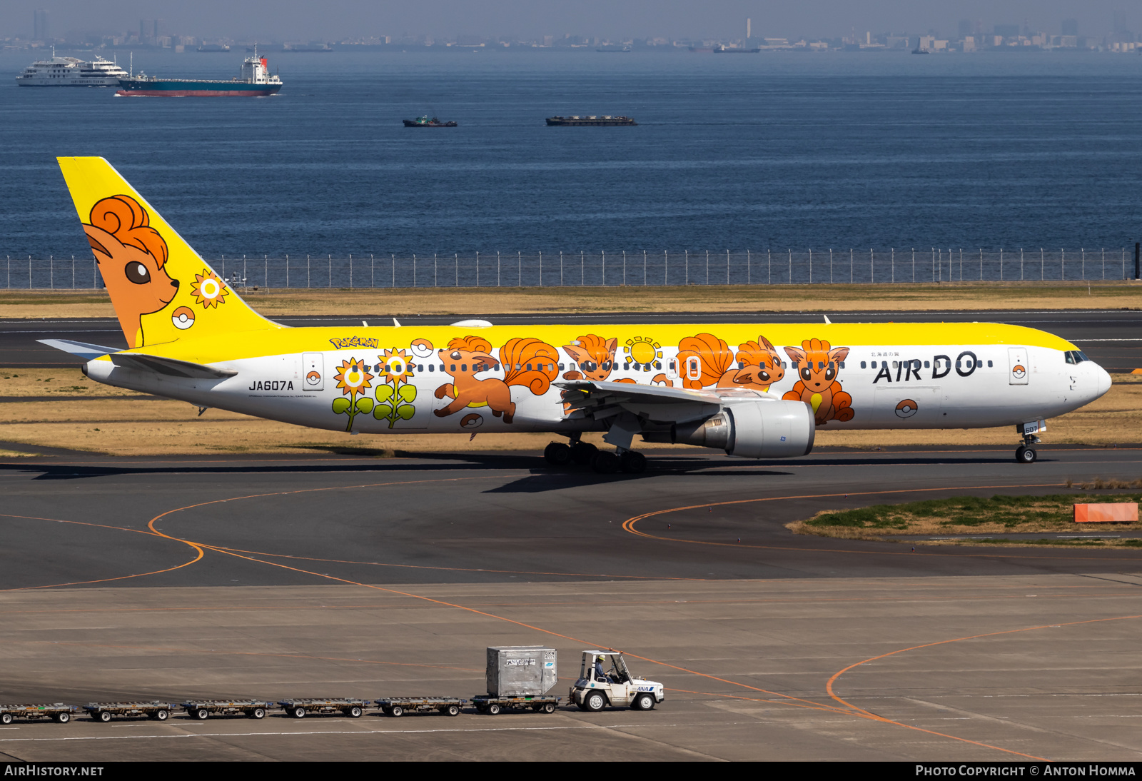
{"label": "large orange Vulpix head and neck painted on the tail fin", "polygon": [[167,242],[151,227],[146,209],[130,195],[113,195],[91,208],[83,224],[99,275],[115,305],[128,347],[142,347],[142,317],[166,307],[178,280],[163,271]]}

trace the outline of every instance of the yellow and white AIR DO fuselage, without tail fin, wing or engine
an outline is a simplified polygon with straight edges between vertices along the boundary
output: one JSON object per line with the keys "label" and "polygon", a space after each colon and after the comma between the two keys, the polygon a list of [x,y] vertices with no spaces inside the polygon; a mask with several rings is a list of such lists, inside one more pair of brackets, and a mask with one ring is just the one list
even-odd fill
{"label": "yellow and white AIR DO fuselage, without tail fin, wing or engine", "polygon": [[980,428],[1070,412],[1110,376],[1069,341],[995,323],[297,328],[180,338],[145,355],[236,372],[90,361],[93,379],[200,406],[363,434],[601,429],[560,383],[804,401],[821,428]]}

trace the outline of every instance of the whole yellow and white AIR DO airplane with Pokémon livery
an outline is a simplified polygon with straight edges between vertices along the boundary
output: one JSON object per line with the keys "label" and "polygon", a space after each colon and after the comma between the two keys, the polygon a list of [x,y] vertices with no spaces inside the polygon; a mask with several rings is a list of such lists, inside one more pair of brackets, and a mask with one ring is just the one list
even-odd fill
{"label": "whole yellow and white AIR DO airplane with Pok\u00e9mon livery", "polygon": [[[544,456],[640,473],[646,443],[807,454],[818,429],[1046,420],[1110,375],[1075,345],[997,323],[289,328],[263,317],[103,158],[59,158],[128,348],[65,339],[89,378],[351,434],[547,432]],[[614,450],[582,441],[605,432]]]}

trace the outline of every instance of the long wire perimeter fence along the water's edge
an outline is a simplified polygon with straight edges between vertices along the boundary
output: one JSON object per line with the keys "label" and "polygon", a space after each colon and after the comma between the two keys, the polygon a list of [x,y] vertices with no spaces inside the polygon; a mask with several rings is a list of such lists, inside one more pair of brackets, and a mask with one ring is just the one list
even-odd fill
{"label": "long wire perimeter fence along the water's edge", "polygon": [[[1127,248],[746,250],[743,252],[476,252],[473,255],[220,256],[207,261],[235,288],[558,288],[1126,280]],[[103,287],[91,258],[7,257],[5,287]]]}

